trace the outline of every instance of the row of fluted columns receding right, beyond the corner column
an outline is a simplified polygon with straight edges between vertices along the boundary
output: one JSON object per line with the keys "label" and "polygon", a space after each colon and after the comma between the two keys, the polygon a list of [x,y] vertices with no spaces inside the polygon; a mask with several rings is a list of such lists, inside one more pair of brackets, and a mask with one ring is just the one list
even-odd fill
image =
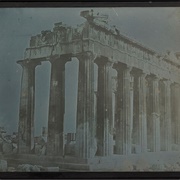
{"label": "row of fluted columns receding right, beyond the corner column", "polygon": [[[133,143],[140,147],[140,152],[171,151],[172,131],[175,131],[174,143],[179,146],[180,86],[168,79],[147,75],[142,70],[123,63],[112,65],[105,57],[98,60],[97,155],[112,154],[111,68],[117,71],[115,153],[131,154]],[[175,96],[174,99],[172,95]],[[162,99],[163,103],[160,104]]]}

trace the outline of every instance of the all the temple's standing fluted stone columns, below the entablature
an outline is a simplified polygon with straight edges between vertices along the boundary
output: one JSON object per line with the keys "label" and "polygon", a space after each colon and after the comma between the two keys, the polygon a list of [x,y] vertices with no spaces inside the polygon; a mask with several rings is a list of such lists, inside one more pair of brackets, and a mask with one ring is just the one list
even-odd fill
{"label": "all the temple's standing fluted stone columns, below the entablature", "polygon": [[[77,55],[79,60],[76,154],[93,157],[113,154],[112,68],[117,71],[115,92],[115,153],[131,154],[132,143],[141,152],[171,150],[171,90],[170,81],[147,75],[142,70],[123,63],[112,63],[90,52]],[[65,113],[65,64],[71,54],[52,56],[48,118],[48,155],[63,155],[63,123]],[[20,116],[19,153],[31,153],[34,140],[35,67],[39,60],[19,61],[23,67]],[[98,65],[97,118],[94,112],[94,63]],[[160,83],[161,82],[161,83]],[[160,88],[160,84],[163,85]],[[179,93],[179,86],[174,90]],[[164,94],[164,97],[162,97]],[[161,98],[160,98],[161,97]],[[162,101],[163,99],[163,101]],[[176,98],[174,98],[176,99]],[[180,102],[177,99],[177,105]],[[178,106],[174,107],[179,123]],[[177,123],[177,124],[178,124]],[[176,127],[176,126],[175,126]],[[178,126],[179,127],[179,124]],[[176,128],[177,131],[177,128]],[[179,134],[177,142],[179,143]],[[97,140],[97,151],[94,150]],[[161,145],[163,142],[164,144]]]}

